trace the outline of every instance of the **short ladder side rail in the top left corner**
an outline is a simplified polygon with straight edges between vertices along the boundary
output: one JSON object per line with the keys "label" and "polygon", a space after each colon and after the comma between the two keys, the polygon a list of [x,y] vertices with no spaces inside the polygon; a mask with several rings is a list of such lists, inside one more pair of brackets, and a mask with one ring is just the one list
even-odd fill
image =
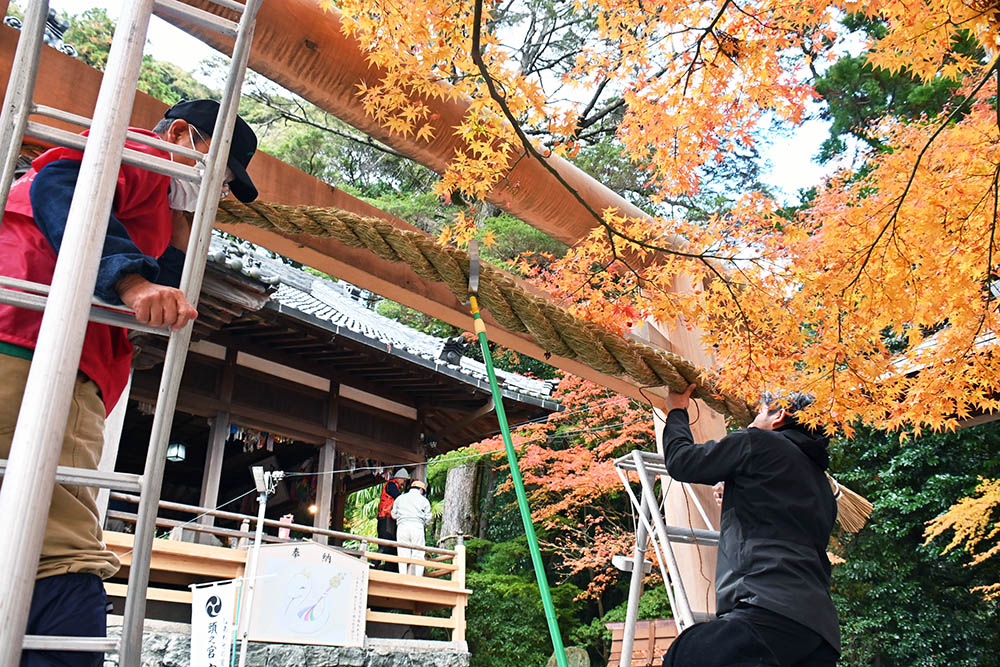
{"label": "short ladder side rail in the top left corner", "polygon": [[45,22],[49,16],[49,0],[35,0],[28,4],[17,39],[17,51],[11,65],[3,111],[0,113],[0,146],[5,151],[0,171],[0,206],[6,206],[7,195],[14,181],[17,157],[21,153],[21,140],[28,124],[28,112],[35,93],[38,63],[45,44]]}

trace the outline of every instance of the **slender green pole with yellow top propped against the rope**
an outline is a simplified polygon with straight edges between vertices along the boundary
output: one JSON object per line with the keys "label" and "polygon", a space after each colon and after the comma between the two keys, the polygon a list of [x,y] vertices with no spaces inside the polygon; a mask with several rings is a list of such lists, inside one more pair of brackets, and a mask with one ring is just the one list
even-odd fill
{"label": "slender green pole with yellow top propped against the rope", "polygon": [[500,422],[500,433],[503,434],[503,446],[507,450],[507,462],[510,464],[510,477],[514,482],[514,492],[517,494],[517,507],[521,510],[521,521],[524,523],[524,534],[528,538],[528,550],[531,552],[531,564],[535,567],[535,579],[538,580],[538,592],[542,596],[542,608],[545,610],[545,620],[549,625],[549,635],[552,637],[552,648],[555,650],[558,667],[568,667],[566,649],[563,648],[562,635],[559,634],[559,623],[556,621],[556,608],[552,604],[552,593],[549,592],[549,582],[545,576],[545,566],[542,565],[542,552],[538,548],[538,537],[535,526],[531,522],[531,512],[528,510],[528,497],[524,492],[524,480],[521,479],[521,468],[517,463],[517,453],[510,439],[510,426],[507,424],[507,413],[503,409],[503,396],[497,385],[496,371],[493,370],[493,356],[490,354],[489,341],[486,340],[486,324],[479,314],[479,300],[469,296],[472,309],[473,325],[479,337],[479,347],[483,350],[483,361],[486,363],[486,374],[490,378],[490,391],[493,392],[493,404],[496,406],[497,421]]}

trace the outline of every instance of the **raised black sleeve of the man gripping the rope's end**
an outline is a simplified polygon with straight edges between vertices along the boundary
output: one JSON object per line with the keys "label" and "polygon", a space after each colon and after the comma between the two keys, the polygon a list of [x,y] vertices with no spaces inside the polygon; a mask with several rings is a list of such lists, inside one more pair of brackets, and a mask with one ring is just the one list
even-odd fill
{"label": "raised black sleeve of the man gripping the rope's end", "polygon": [[750,456],[747,431],[734,431],[722,440],[694,444],[687,410],[671,410],[663,429],[663,462],[678,482],[715,484],[745,471]]}

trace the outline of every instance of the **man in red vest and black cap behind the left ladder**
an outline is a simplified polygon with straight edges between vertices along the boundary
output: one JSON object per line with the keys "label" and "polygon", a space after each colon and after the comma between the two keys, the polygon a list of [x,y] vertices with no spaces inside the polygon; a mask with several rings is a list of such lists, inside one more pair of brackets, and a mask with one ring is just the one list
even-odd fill
{"label": "man in red vest and black cap behind the left ladder", "polygon": [[[178,146],[207,153],[219,104],[180,102],[153,131]],[[171,158],[136,141],[126,147]],[[246,166],[257,147],[253,130],[237,119],[230,150],[227,189],[242,201],[257,197]],[[62,243],[82,154],[53,148],[32,162],[14,183],[0,224],[0,275],[49,284]],[[174,157],[178,162],[189,160]],[[223,191],[223,195],[226,194]],[[198,186],[123,164],[118,172],[108,232],[94,293],[136,311],[140,322],[179,329],[197,317],[177,289],[190,212]],[[0,305],[0,458],[7,458],[42,313]],[[73,389],[60,465],[97,467],[104,419],[128,382],[132,345],[123,329],[90,323]],[[28,621],[28,634],[104,636],[106,598],[101,582],[118,570],[105,548],[96,489],[56,485],[45,529]],[[99,665],[97,653],[26,651],[22,665]]]}

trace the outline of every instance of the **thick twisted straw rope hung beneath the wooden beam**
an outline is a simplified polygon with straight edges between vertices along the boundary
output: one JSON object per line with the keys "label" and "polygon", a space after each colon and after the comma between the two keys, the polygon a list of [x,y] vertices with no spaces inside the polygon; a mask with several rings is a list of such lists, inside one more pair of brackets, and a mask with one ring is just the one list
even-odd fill
{"label": "thick twisted straw rope hung beneath the wooden beam", "polygon": [[[242,204],[226,199],[219,203],[216,219],[222,224],[248,224],[286,234],[334,238],[352,248],[367,249],[380,259],[404,262],[424,280],[443,282],[459,301],[468,298],[467,253],[442,247],[425,234],[397,229],[378,218],[334,208]],[[547,352],[575,359],[602,373],[628,378],[640,386],[666,386],[679,392],[695,384],[695,397],[713,410],[741,425],[750,422],[752,412],[747,403],[719,392],[707,370],[574,317],[519,287],[489,264],[482,266],[479,298],[500,326],[528,334]]]}

